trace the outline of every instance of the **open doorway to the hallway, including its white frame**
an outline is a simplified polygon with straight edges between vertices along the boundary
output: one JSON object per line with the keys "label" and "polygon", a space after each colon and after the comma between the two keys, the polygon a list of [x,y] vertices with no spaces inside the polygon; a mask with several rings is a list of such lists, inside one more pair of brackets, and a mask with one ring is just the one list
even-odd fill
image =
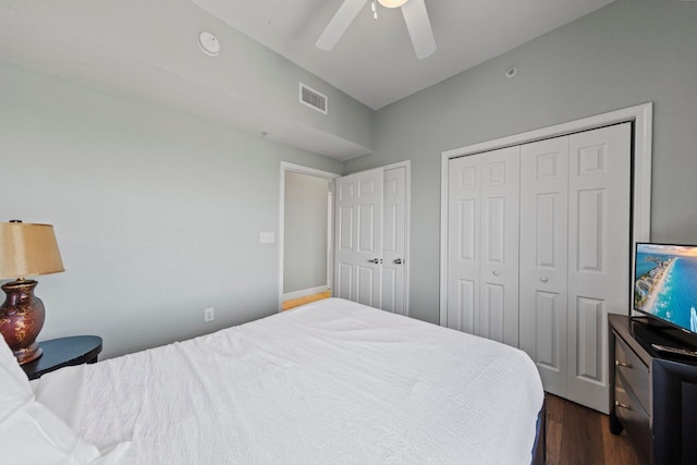
{"label": "open doorway to the hallway, including its white frame", "polygon": [[281,310],[293,305],[293,302],[309,302],[315,295],[328,296],[331,293],[332,181],[338,176],[297,164],[281,163]]}

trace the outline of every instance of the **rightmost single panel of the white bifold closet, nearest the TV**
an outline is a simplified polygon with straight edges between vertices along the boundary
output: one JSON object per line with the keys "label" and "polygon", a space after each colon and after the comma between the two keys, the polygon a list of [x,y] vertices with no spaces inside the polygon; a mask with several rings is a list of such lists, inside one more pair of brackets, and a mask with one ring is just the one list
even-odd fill
{"label": "rightmost single panel of the white bifold closet, nearest the TV", "polygon": [[631,124],[570,136],[568,397],[608,413],[608,311],[629,308]]}

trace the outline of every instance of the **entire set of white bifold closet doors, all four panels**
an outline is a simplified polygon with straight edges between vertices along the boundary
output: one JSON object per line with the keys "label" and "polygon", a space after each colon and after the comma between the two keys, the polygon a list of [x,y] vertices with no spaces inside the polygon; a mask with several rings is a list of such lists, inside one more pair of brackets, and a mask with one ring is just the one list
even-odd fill
{"label": "entire set of white bifold closet doors, all four panels", "polygon": [[626,314],[632,125],[454,158],[445,325],[518,346],[545,390],[609,412],[608,313]]}

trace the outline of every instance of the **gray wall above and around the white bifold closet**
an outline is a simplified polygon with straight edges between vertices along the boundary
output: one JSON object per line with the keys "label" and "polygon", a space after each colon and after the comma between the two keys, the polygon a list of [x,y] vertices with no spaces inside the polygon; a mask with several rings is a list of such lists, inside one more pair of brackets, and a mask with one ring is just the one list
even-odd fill
{"label": "gray wall above and around the white bifold closet", "polygon": [[[505,77],[515,65],[518,73]],[[439,319],[441,151],[655,102],[653,241],[697,243],[697,3],[617,0],[376,115],[356,172],[412,160],[409,315]]]}

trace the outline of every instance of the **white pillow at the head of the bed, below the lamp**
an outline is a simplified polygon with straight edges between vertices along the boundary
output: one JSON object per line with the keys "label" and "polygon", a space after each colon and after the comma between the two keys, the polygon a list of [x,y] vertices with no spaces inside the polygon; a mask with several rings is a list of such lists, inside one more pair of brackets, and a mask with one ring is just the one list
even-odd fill
{"label": "white pillow at the head of the bed, below the lamp", "polygon": [[49,408],[37,402],[29,380],[0,336],[0,451],[2,463],[27,465],[117,464],[127,443],[102,455]]}

